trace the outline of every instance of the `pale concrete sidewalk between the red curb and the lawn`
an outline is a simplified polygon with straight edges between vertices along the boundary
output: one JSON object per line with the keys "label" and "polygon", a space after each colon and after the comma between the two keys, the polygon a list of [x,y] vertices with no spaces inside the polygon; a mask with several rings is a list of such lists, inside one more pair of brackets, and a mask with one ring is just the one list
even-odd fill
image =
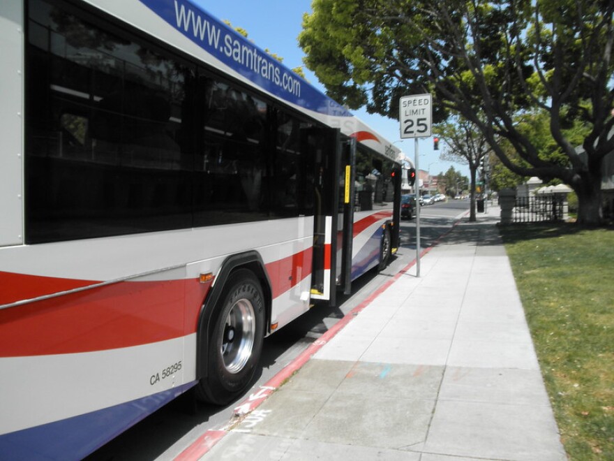
{"label": "pale concrete sidewalk between the red curb and the lawn", "polygon": [[566,460],[497,221],[461,221],[200,459]]}

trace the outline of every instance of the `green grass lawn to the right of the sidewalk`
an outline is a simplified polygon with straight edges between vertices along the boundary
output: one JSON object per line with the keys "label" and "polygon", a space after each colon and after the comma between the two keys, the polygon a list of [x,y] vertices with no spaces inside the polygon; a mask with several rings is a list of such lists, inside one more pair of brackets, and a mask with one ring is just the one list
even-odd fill
{"label": "green grass lawn to the right of the sidewalk", "polygon": [[567,455],[614,460],[614,231],[501,233]]}

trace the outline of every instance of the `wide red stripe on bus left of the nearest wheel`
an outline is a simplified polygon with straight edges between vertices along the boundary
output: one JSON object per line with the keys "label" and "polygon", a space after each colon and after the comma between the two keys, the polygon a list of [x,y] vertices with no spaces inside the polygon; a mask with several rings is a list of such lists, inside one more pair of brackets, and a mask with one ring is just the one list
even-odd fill
{"label": "wide red stripe on bus left of the nearest wheel", "polygon": [[211,283],[123,281],[0,310],[0,357],[138,346],[196,331]]}

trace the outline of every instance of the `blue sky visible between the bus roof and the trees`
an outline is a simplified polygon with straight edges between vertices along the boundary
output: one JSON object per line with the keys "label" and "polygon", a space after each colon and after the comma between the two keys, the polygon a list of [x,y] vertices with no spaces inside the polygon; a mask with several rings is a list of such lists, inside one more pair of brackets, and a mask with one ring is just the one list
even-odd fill
{"label": "blue sky visible between the bus roof and the trees", "polygon": [[[241,27],[248,33],[248,38],[262,50],[269,51],[283,57],[283,64],[287,68],[304,66],[304,52],[298,44],[298,36],[302,30],[304,13],[311,13],[311,0],[193,0],[208,13],[219,20],[228,20],[232,27]],[[324,87],[317,80],[315,74],[304,66],[306,79],[321,92]],[[396,147],[409,159],[414,161],[415,141],[413,139],[400,139],[400,126],[398,119],[389,119],[381,115],[368,114],[366,110],[352,110],[363,122],[368,124],[381,136],[393,142]],[[440,149],[444,140],[440,140]],[[424,138],[418,141],[419,168],[431,175],[445,173],[450,166],[469,175],[469,168],[461,163],[442,161],[440,152],[433,150],[433,138]]]}

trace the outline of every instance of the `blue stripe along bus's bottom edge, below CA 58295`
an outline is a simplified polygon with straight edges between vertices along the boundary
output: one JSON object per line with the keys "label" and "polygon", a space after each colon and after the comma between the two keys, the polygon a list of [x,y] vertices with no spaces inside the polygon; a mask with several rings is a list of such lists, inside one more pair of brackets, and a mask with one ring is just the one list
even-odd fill
{"label": "blue stripe along bus's bottom edge, below CA 58295", "polygon": [[[0,435],[0,460],[80,460],[196,382],[54,423]],[[6,416],[9,417],[10,416]]]}

